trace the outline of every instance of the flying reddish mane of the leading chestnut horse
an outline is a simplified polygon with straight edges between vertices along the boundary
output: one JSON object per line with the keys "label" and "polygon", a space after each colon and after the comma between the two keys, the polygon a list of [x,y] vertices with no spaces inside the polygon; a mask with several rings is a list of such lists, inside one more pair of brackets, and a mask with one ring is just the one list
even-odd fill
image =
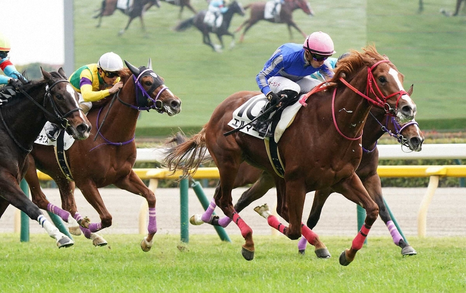
{"label": "flying reddish mane of the leading chestnut horse", "polygon": [[[358,72],[361,67],[371,66],[377,61],[388,60],[385,55],[381,55],[377,52],[374,45],[368,45],[362,48],[363,52],[356,50],[350,50],[350,53],[338,60],[338,66],[335,69],[335,75],[329,80],[329,88],[335,87],[341,84],[340,77],[345,79],[353,76],[354,73]],[[395,65],[392,64],[395,67]]]}

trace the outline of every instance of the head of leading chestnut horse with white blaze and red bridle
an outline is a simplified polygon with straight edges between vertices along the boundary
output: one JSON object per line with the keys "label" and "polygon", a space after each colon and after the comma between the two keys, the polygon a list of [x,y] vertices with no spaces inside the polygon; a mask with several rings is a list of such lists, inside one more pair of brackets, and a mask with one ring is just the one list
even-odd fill
{"label": "head of leading chestnut horse with white blaze and red bridle", "polygon": [[357,82],[364,82],[366,85],[365,94],[359,92],[359,95],[371,104],[385,108],[400,123],[413,120],[416,116],[416,104],[403,88],[403,74],[386,56],[377,53],[374,46],[367,46],[363,50],[363,53],[353,50],[349,56],[342,58],[332,81],[342,82],[354,90],[345,79],[351,80],[359,72],[361,77]]}

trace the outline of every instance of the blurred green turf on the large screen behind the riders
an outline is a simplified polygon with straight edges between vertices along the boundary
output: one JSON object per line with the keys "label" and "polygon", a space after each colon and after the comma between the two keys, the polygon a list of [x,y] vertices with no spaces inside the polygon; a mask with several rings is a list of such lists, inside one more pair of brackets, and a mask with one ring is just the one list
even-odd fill
{"label": "blurred green turf on the large screen behind the riders", "polygon": [[[252,0],[241,0],[244,5]],[[192,0],[197,9],[205,9],[204,0]],[[425,3],[418,13],[417,1],[348,0],[336,3],[311,2],[315,16],[295,10],[293,17],[306,32],[328,32],[336,55],[349,49],[359,50],[375,44],[387,54],[405,75],[405,87],[414,83],[413,98],[418,105],[417,120],[423,129],[464,129],[464,85],[466,71],[466,25],[464,16],[445,17],[439,10],[451,7],[450,0]],[[265,60],[282,43],[301,43],[303,37],[293,31],[290,39],[286,25],[258,22],[246,34],[244,42],[223,53],[213,52],[202,43],[194,27],[184,32],[173,28],[180,21],[179,7],[162,2],[144,15],[146,32],[139,19],[133,20],[121,36],[128,17],[120,11],[102,20],[91,16],[99,3],[74,1],[75,67],[96,62],[106,51],[115,51],[133,65],[147,64],[152,58],[154,70],[182,101],[182,112],[174,117],[152,111],[142,112],[138,136],[165,136],[178,127],[197,132],[207,123],[214,108],[227,96],[240,90],[256,90],[255,75]],[[235,15],[231,31],[248,17]],[[191,17],[183,12],[183,19]],[[239,37],[239,34],[236,34]],[[215,36],[212,36],[218,42]],[[224,38],[228,47],[230,37]],[[424,125],[426,127],[424,127]]]}

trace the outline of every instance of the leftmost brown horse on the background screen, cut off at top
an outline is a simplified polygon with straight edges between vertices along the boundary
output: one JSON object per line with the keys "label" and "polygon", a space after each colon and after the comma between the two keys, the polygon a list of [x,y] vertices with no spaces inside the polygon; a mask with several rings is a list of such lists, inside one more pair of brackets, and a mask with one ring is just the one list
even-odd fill
{"label": "leftmost brown horse on the background screen, cut off at top", "polygon": [[144,6],[147,4],[156,5],[157,7],[160,7],[158,0],[134,0],[133,5],[131,5],[130,7],[126,9],[117,8],[117,0],[103,0],[102,5],[99,9],[99,13],[94,16],[94,18],[99,18],[97,27],[100,27],[100,24],[102,23],[102,16],[112,15],[113,12],[115,12],[115,10],[118,9],[124,14],[129,16],[128,23],[126,24],[125,28],[120,30],[118,34],[123,34],[125,30],[128,29],[131,21],[133,21],[133,19],[136,17],[139,17],[139,19],[141,19],[142,30],[145,31],[146,27],[144,25],[142,13],[144,10]]}

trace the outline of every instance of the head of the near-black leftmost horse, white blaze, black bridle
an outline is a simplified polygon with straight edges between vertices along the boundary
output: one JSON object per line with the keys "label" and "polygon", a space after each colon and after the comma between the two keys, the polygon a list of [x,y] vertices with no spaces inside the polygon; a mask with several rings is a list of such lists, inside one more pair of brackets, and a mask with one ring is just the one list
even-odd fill
{"label": "head of the near-black leftmost horse, white blaze, black bridle", "polygon": [[45,81],[43,106],[47,120],[63,127],[74,139],[88,138],[91,123],[79,107],[79,96],[66,79],[63,69],[47,72],[40,67],[40,70]]}

